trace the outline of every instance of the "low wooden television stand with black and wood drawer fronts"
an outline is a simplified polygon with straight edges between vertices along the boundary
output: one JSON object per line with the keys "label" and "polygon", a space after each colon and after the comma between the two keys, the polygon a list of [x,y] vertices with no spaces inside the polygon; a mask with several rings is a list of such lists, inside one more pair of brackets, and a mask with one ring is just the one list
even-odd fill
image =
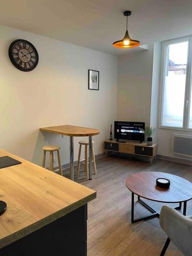
{"label": "low wooden television stand with black and wood drawer fronts", "polygon": [[117,140],[105,140],[104,150],[106,154],[108,152],[116,152],[132,156],[144,156],[151,160],[155,160],[157,155],[157,143],[149,146],[146,142],[134,142],[134,141],[117,141]]}

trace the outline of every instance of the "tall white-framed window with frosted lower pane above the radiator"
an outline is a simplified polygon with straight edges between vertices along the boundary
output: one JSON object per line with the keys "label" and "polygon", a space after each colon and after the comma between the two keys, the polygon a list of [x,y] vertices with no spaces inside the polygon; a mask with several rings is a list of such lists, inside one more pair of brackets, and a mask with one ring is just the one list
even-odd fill
{"label": "tall white-framed window with frosted lower pane above the radiator", "polygon": [[[192,37],[163,42],[160,126],[192,130]],[[190,104],[191,102],[191,104]]]}

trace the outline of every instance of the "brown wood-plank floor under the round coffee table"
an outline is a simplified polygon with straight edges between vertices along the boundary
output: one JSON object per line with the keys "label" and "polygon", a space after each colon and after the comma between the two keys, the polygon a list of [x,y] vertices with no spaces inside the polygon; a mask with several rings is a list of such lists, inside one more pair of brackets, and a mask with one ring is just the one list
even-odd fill
{"label": "brown wood-plank floor under the round coffee table", "polygon": [[[165,160],[157,160],[151,165],[117,156],[98,159],[98,174],[92,181],[84,179],[84,172],[75,176],[77,182],[97,191],[97,198],[88,205],[89,256],[160,254],[167,237],[159,226],[159,219],[131,224],[131,192],[126,188],[125,180],[131,174],[146,171],[175,174],[192,182],[192,166]],[[156,209],[161,206],[148,202]],[[135,217],[145,214],[148,214],[147,209],[136,202]],[[187,215],[192,215],[192,202],[187,204]],[[165,255],[182,254],[171,243]]]}

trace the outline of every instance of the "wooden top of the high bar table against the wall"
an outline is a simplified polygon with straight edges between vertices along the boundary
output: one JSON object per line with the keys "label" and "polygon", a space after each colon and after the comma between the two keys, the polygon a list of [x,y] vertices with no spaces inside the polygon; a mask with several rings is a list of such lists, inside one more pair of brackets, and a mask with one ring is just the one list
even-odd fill
{"label": "wooden top of the high bar table against the wall", "polygon": [[50,126],[40,128],[42,132],[48,133],[56,133],[66,136],[76,136],[76,137],[83,137],[83,136],[94,136],[100,133],[97,129],[81,127],[81,126],[74,126],[74,125],[58,125],[58,126]]}

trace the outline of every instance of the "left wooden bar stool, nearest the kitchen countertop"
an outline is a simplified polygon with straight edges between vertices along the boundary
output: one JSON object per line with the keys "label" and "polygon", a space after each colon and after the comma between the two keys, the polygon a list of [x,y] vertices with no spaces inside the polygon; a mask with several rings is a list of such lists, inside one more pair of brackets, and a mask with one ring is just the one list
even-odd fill
{"label": "left wooden bar stool, nearest the kitchen countertop", "polygon": [[60,146],[55,146],[55,145],[43,146],[42,150],[44,151],[44,157],[42,158],[42,167],[45,168],[46,152],[50,152],[49,165],[50,165],[50,170],[52,170],[52,172],[53,172],[53,152],[57,151],[59,171],[60,171],[60,175],[62,176],[62,168],[61,168],[61,161],[60,161],[60,154],[59,154]]}

